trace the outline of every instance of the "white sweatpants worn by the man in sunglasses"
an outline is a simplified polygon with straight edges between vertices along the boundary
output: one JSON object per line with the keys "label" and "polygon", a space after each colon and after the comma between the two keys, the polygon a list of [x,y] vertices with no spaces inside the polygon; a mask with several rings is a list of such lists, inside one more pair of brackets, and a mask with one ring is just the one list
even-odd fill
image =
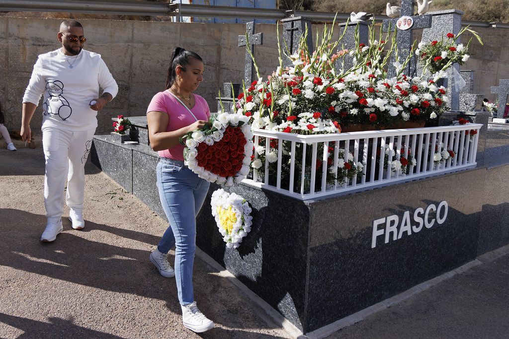
{"label": "white sweatpants worn by the man in sunglasses", "polygon": [[83,208],[85,162],[92,147],[95,128],[88,131],[66,131],[42,127],[42,145],[46,158],[44,206],[47,218],[64,214],[64,185],[67,174],[67,206]]}

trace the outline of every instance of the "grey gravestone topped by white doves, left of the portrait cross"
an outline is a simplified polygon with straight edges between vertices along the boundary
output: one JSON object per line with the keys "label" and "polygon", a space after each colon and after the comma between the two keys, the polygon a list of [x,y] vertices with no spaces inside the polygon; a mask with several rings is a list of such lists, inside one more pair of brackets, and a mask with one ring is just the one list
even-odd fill
{"label": "grey gravestone topped by white doves, left of the portrait cross", "polygon": [[[356,48],[356,41],[358,39],[359,44],[367,45],[370,37],[369,24],[366,22],[359,21],[356,22],[344,22],[340,23],[340,27],[342,27],[340,34],[343,34],[343,29],[345,29],[345,35],[340,42],[340,45],[337,47],[337,51],[341,51],[343,49],[348,49],[349,51]],[[355,31],[357,30],[357,34]],[[343,62],[344,61],[344,62]],[[345,54],[344,57],[338,58],[334,65],[336,71],[339,70],[348,70],[353,66],[353,57],[349,54]]]}

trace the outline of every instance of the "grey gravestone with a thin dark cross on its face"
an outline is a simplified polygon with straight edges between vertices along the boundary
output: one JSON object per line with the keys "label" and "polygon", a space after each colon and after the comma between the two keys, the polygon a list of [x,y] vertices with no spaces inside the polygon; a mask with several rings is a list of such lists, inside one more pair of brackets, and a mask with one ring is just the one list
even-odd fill
{"label": "grey gravestone with a thin dark cross on its face", "polygon": [[[309,49],[309,54],[313,53],[313,32],[311,28],[311,21],[307,18],[297,16],[294,18],[282,19],[283,23],[283,40],[284,43],[281,46],[283,50],[290,51],[291,54],[295,53],[299,48],[299,40],[306,32],[307,27],[307,38],[306,45]],[[292,60],[286,55],[283,55],[283,67],[292,66]]]}

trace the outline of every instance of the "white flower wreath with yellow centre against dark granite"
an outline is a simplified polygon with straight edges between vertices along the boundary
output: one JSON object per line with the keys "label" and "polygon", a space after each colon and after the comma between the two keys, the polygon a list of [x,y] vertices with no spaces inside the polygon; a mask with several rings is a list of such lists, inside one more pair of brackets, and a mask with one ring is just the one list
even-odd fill
{"label": "white flower wreath with yellow centre against dark granite", "polygon": [[212,215],[228,248],[238,248],[251,231],[251,207],[246,199],[219,189],[212,193]]}

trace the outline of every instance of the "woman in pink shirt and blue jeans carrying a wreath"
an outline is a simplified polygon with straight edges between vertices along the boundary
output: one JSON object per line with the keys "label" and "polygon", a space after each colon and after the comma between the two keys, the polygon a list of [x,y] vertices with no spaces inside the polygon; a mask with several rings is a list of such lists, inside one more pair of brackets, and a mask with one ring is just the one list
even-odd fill
{"label": "woman in pink shirt and blue jeans carrying a wreath", "polygon": [[[169,222],[157,249],[150,254],[150,261],[162,276],[175,276],[182,322],[194,332],[214,327],[196,306],[192,285],[196,215],[209,190],[209,182],[184,165],[184,146],[179,138],[208,122],[207,102],[193,94],[203,81],[203,71],[200,55],[177,47],[169,63],[166,90],[156,94],[147,109],[150,144],[161,157],[157,164],[159,198]],[[174,245],[175,271],[166,259]]]}

